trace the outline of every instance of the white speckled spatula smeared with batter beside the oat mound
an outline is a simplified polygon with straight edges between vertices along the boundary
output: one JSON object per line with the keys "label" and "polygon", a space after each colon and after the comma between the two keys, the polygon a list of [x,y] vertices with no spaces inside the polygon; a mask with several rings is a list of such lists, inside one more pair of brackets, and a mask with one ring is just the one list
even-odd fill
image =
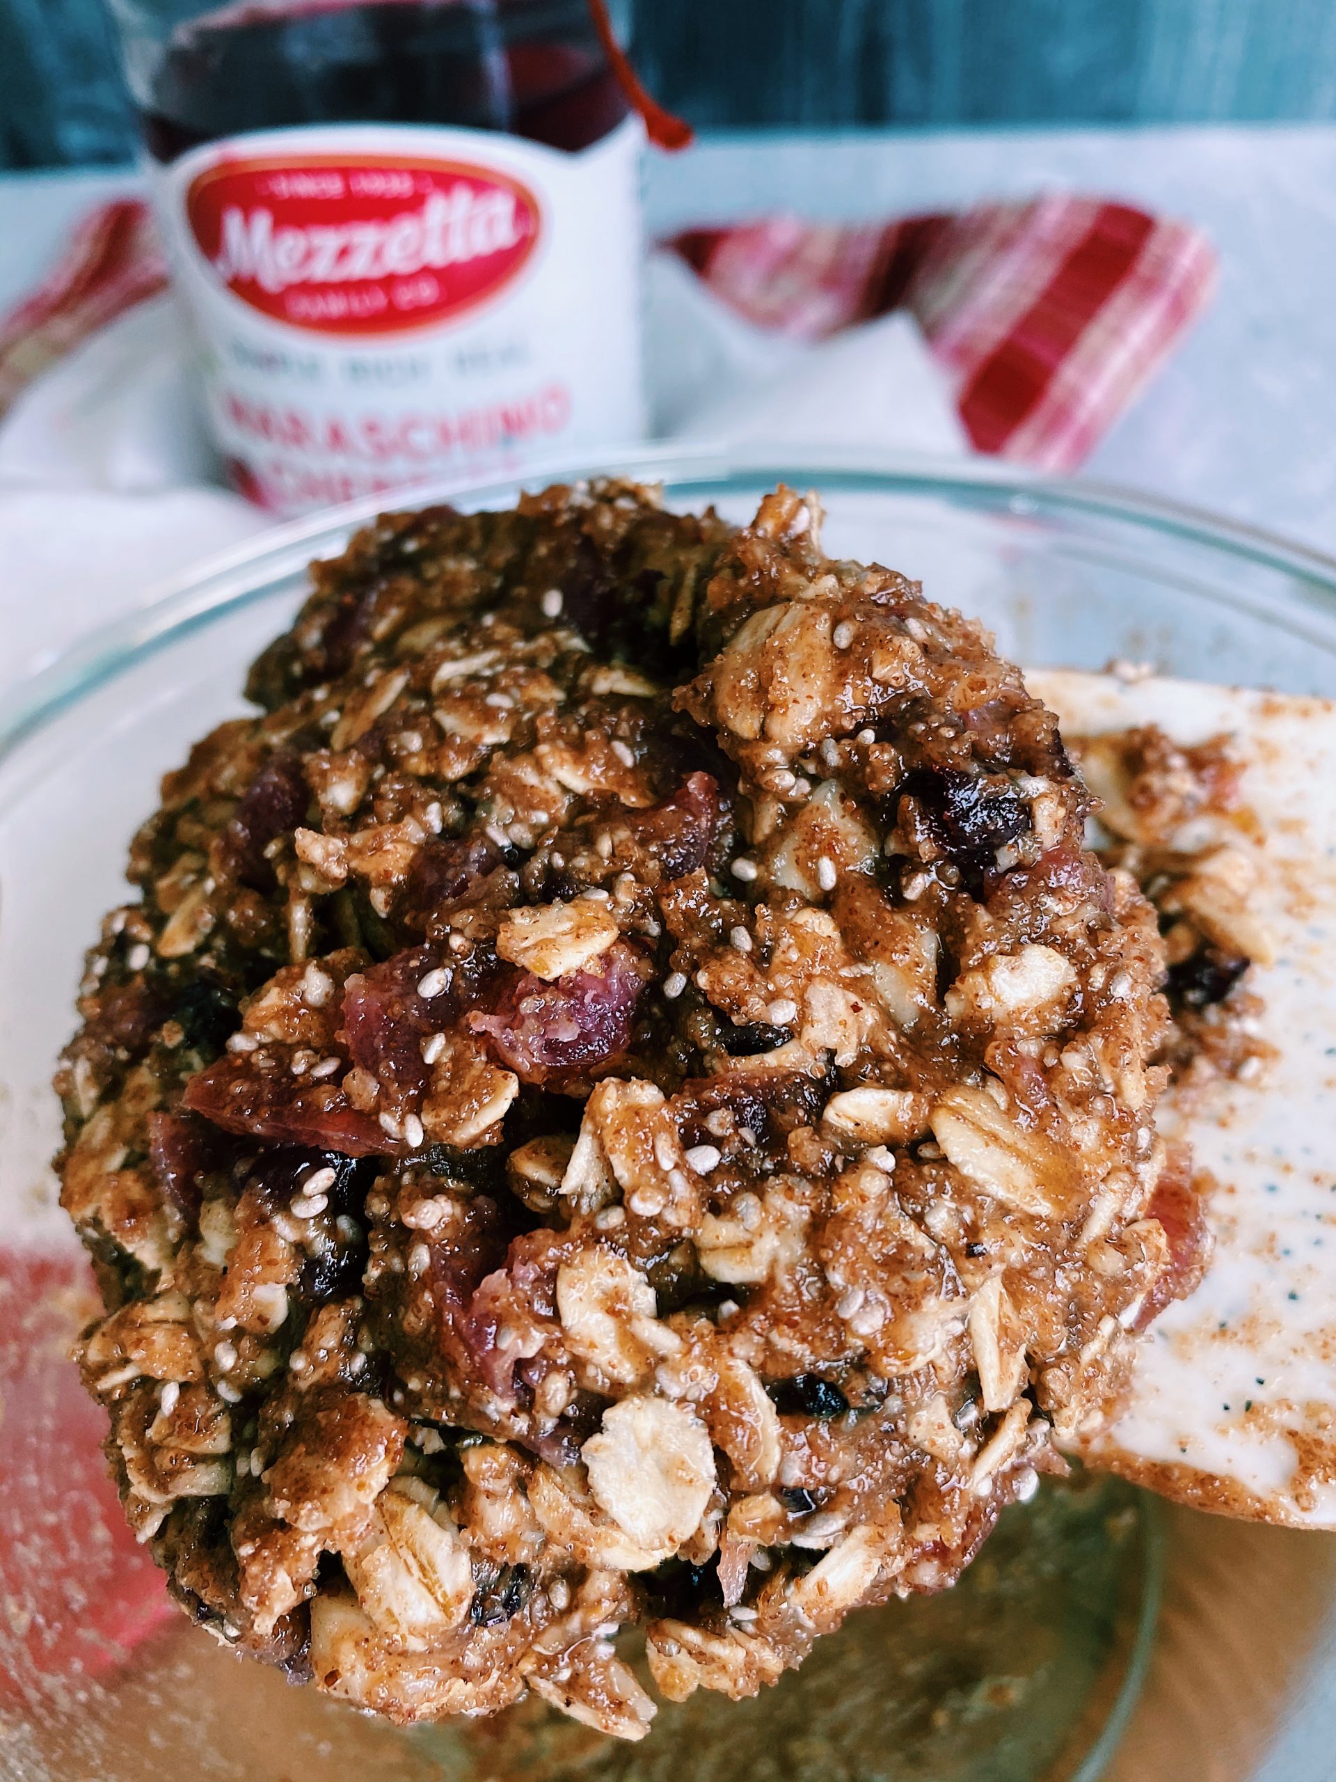
{"label": "white speckled spatula smeared with batter beside the oat mound", "polygon": [[1071,736],[1156,723],[1174,741],[1229,732],[1258,816],[1254,966],[1259,1082],[1224,1082],[1161,1130],[1218,1183],[1217,1249],[1190,1299],[1151,1328],[1131,1390],[1087,1458],[1208,1509],[1336,1529],[1336,704],[1206,686],[1031,672]]}

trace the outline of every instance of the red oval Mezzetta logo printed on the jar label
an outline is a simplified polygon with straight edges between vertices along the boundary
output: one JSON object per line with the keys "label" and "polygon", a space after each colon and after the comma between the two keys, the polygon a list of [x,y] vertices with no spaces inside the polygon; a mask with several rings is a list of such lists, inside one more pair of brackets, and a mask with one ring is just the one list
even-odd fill
{"label": "red oval Mezzetta logo printed on the jar label", "polygon": [[185,214],[242,303],[335,335],[477,308],[518,276],[542,219],[506,173],[394,155],[221,160],[191,184]]}

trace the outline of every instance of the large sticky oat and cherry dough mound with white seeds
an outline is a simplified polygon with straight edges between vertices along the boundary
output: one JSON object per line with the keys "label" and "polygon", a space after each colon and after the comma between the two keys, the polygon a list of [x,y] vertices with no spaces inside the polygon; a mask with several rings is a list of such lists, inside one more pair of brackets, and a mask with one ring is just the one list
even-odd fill
{"label": "large sticky oat and cherry dough mound with white seeds", "polygon": [[89,960],[84,1374],[219,1638],[638,1737],[618,1627],[739,1696],[951,1584],[1190,1279],[1156,912],[812,499],[554,488],[314,576]]}

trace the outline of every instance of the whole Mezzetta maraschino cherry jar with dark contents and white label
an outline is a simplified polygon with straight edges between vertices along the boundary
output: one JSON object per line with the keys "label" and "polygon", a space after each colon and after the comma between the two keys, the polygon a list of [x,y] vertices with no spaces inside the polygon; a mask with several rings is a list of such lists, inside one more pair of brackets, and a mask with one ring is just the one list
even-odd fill
{"label": "whole Mezzetta maraschino cherry jar with dark contents and white label", "polygon": [[636,438],[639,119],[586,0],[118,0],[208,419],[299,513]]}

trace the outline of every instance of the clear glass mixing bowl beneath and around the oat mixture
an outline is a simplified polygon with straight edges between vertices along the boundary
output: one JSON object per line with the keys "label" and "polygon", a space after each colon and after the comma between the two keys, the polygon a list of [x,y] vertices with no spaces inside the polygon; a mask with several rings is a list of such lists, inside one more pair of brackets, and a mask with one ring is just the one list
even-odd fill
{"label": "clear glass mixing bowl beneath and around the oat mixture", "polygon": [[[1336,695],[1336,563],[1206,515],[976,465],[695,451],[629,453],[616,469],[663,481],[673,506],[714,503],[730,519],[777,481],[816,488],[832,552],[921,577],[933,599],[990,624],[1021,663],[1120,658]],[[552,476],[588,470],[554,465]],[[490,506],[515,492],[426,488],[406,501]],[[82,952],[123,895],[125,848],[157,804],[159,775],[244,709],[244,666],[289,622],[306,561],[337,552],[372,511],[340,510],[217,560],[0,709],[0,1771],[23,1782],[178,1771],[219,1782],[1090,1782],[1124,1775],[1128,1745],[1112,1770],[1106,1761],[1131,1720],[1126,1775],[1154,1782],[1186,1773],[1163,1727],[1197,1716],[1186,1750],[1208,1739],[1231,1753],[1213,1777],[1254,1775],[1277,1739],[1277,1775],[1327,1775],[1320,1654],[1336,1543],[1226,1525],[1204,1534],[1204,1518],[1172,1513],[1167,1632],[1153,1652],[1158,1520],[1112,1481],[1046,1488],[1006,1513],[949,1597],[855,1616],[775,1691],[737,1707],[698,1696],[664,1711],[634,1748],[527,1705],[501,1723],[395,1732],[289,1691],[167,1611],[102,1474],[102,1413],[66,1360],[89,1301],[53,1205],[48,1083]],[[1242,1554],[1242,1572],[1229,1554]],[[1277,1588],[1265,1679],[1252,1668],[1247,1689],[1222,1688],[1231,1666],[1238,1675],[1249,1618]],[[1161,1770],[1158,1753],[1177,1770]]]}

